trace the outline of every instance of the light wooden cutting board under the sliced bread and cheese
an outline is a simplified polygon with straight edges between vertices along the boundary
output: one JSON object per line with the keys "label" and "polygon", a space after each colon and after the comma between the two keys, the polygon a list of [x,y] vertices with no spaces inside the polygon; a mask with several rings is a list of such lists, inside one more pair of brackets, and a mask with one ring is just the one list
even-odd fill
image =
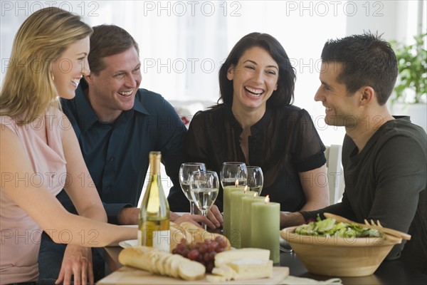
{"label": "light wooden cutting board under the sliced bread and cheese", "polygon": [[[283,279],[289,275],[289,267],[273,267],[273,277],[265,279],[241,280],[241,281],[227,281],[221,284],[280,284]],[[97,284],[109,285],[133,285],[133,284],[217,284],[211,283],[204,279],[195,281],[186,281],[183,279],[174,279],[172,277],[161,276],[152,274],[148,271],[134,269],[131,267],[123,266],[112,274],[101,279]]]}

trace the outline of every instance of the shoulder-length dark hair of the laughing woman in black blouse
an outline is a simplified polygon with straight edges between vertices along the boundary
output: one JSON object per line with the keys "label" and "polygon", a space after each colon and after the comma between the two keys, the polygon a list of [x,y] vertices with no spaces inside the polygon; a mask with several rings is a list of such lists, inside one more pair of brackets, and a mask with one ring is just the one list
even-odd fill
{"label": "shoulder-length dark hair of the laughing woman in black blouse", "polygon": [[268,108],[280,108],[284,105],[290,105],[294,100],[295,69],[290,64],[285,48],[268,33],[249,33],[243,36],[233,47],[226,61],[219,69],[221,96],[218,99],[218,103],[226,105],[233,103],[233,81],[229,81],[227,78],[228,68],[237,66],[243,53],[254,46],[265,49],[279,66],[278,88],[273,91],[273,94],[267,100]]}

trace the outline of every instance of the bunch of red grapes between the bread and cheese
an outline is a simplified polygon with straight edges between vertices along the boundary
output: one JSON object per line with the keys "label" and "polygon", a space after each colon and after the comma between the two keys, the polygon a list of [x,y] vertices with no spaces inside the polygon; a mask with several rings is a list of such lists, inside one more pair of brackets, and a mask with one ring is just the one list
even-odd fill
{"label": "bunch of red grapes between the bread and cheese", "polygon": [[172,250],[172,254],[180,254],[188,259],[199,261],[206,267],[206,272],[211,273],[215,266],[215,255],[218,252],[225,251],[226,247],[227,242],[221,237],[205,239],[204,242],[192,244],[186,244],[185,239],[182,239],[181,242],[176,245],[176,248]]}

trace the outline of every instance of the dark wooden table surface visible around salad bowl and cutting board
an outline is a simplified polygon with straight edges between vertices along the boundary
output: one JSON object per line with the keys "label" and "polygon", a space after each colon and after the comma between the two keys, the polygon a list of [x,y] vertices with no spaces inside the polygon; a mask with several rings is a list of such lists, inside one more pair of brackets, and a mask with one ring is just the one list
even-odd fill
{"label": "dark wooden table surface visible around salad bowl and cutting board", "polygon": [[[108,269],[116,271],[122,264],[118,261],[121,247],[98,249],[105,259]],[[331,276],[311,274],[295,253],[280,253],[280,266],[288,266],[290,275],[315,280],[331,279]],[[404,266],[399,260],[384,261],[374,274],[364,277],[341,277],[343,284],[427,284],[427,276]]]}

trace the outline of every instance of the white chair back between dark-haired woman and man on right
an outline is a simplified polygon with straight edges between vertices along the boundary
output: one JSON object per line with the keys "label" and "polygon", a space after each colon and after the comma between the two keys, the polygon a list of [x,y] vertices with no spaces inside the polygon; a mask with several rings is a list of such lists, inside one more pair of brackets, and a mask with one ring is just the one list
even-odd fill
{"label": "white chair back between dark-haired woman and man on right", "polygon": [[344,187],[344,171],[341,165],[342,145],[326,147],[327,180],[330,190],[330,204],[339,202]]}

